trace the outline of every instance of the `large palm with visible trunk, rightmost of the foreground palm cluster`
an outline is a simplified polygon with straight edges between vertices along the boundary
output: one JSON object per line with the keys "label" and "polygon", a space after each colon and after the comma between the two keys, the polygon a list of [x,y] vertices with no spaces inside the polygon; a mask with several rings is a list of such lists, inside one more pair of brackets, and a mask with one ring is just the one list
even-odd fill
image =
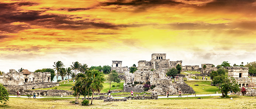
{"label": "large palm with visible trunk, rightmost of the foreground palm cluster", "polygon": [[[87,73],[87,82],[89,83],[89,89],[93,92],[100,92],[103,89],[103,83],[105,81],[105,77],[102,72],[93,69]],[[93,103],[93,94],[91,96],[91,104]]]}

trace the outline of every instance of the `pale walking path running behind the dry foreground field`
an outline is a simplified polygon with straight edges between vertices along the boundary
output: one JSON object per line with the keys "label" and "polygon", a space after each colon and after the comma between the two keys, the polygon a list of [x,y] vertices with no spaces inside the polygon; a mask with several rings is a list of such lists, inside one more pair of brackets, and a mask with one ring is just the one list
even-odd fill
{"label": "pale walking path running behind the dry foreground field", "polygon": [[[207,96],[221,96],[222,94],[202,94],[202,95],[182,95],[182,97],[207,97]],[[16,98],[17,96],[9,96]],[[27,96],[21,96],[20,98],[28,98]],[[31,97],[33,98],[33,97]],[[75,98],[75,97],[36,97],[36,98]],[[124,97],[113,97],[124,98]],[[158,96],[158,98],[167,98],[167,96]],[[169,98],[179,98],[178,96],[169,96]]]}

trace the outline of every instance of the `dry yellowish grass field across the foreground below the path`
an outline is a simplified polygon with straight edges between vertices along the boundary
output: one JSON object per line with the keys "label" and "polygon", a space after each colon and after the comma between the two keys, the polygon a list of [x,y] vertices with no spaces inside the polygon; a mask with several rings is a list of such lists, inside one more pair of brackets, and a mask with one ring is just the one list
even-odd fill
{"label": "dry yellowish grass field across the foreground below the path", "polygon": [[7,106],[0,105],[1,109],[255,109],[255,97],[231,96],[230,98],[201,97],[175,98],[158,100],[128,100],[126,102],[103,102],[93,100],[94,105],[82,106],[69,103],[74,98],[10,98]]}

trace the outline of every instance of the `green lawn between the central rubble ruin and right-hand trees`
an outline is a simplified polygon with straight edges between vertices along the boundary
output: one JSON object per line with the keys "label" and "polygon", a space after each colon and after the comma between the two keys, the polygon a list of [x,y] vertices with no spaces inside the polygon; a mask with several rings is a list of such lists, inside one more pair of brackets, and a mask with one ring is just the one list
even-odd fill
{"label": "green lawn between the central rubble ruin and right-hand trees", "polygon": [[[196,94],[215,94],[215,91],[219,91],[218,87],[211,86],[211,81],[185,81],[185,83],[192,87]],[[194,86],[195,84],[198,86]]]}

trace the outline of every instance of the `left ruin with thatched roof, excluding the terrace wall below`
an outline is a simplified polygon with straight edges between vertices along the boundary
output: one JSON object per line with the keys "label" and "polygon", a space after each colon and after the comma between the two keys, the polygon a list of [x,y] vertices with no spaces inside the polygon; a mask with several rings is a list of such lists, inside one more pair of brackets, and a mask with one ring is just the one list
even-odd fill
{"label": "left ruin with thatched roof, excluding the terrace wall below", "polygon": [[0,75],[0,83],[3,85],[25,85],[31,83],[47,83],[51,82],[50,72],[29,72],[24,69],[18,73],[14,69],[10,69],[10,72]]}

